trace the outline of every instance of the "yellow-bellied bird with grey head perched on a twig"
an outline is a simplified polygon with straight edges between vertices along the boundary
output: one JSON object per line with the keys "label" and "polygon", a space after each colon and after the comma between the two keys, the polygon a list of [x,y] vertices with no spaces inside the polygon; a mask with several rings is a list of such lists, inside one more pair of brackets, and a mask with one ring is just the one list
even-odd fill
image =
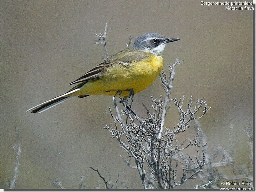
{"label": "yellow-bellied bird with grey head perched on a twig", "polygon": [[119,51],[92,68],[70,85],[77,84],[66,93],[40,103],[27,110],[41,113],[71,98],[91,95],[122,97],[146,89],[163,69],[163,51],[167,43],[180,40],[159,33],[146,33],[137,37],[132,47]]}

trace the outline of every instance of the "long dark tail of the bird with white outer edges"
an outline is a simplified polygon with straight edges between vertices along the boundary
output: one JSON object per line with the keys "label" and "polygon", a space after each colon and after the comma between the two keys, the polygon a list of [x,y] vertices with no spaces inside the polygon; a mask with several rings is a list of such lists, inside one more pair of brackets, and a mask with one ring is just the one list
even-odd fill
{"label": "long dark tail of the bird with white outer edges", "polygon": [[[80,90],[80,88],[68,91],[67,93],[64,93],[63,95],[54,97],[54,98],[50,99],[49,101],[45,101],[44,103],[40,103],[39,105],[36,105],[35,107],[28,109],[27,111],[31,111],[31,113],[42,113],[42,112],[62,103],[64,101],[67,101],[68,99],[75,97],[72,95],[72,93],[74,93],[78,90]],[[78,97],[80,97],[80,96],[78,96]],[[82,96],[82,97],[84,97],[84,96]]]}

